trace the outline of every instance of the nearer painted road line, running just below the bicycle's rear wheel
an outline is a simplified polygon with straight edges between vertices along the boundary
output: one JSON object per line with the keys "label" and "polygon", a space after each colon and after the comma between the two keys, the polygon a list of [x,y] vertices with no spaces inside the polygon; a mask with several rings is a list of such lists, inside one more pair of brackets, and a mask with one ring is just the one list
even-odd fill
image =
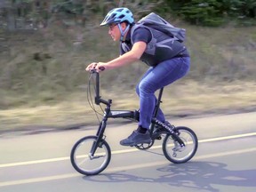
{"label": "nearer painted road line, running just below the bicycle's rear wheel", "polygon": [[[243,153],[250,153],[256,151],[256,148],[246,148],[236,151],[229,151],[229,152],[223,152],[223,153],[217,153],[217,154],[211,154],[211,155],[203,155],[203,156],[195,156],[193,160],[199,160],[199,159],[205,159],[205,158],[212,158],[212,157],[219,157],[219,156],[231,156],[236,154],[243,154]],[[141,168],[147,168],[152,166],[160,166],[164,164],[169,164],[168,161],[159,161],[159,162],[152,162],[148,164],[132,164],[132,165],[125,165],[120,167],[112,167],[107,168],[107,173],[110,172],[120,172],[120,171],[127,171],[132,169],[141,169]],[[21,185],[21,184],[29,184],[29,183],[36,183],[36,182],[44,182],[48,180],[64,180],[68,178],[75,178],[75,177],[81,177],[79,173],[68,173],[68,174],[61,174],[61,175],[53,175],[48,177],[41,177],[41,178],[32,178],[27,180],[10,180],[10,181],[4,181],[0,182],[0,187],[7,187],[7,186],[14,186],[14,185]]]}

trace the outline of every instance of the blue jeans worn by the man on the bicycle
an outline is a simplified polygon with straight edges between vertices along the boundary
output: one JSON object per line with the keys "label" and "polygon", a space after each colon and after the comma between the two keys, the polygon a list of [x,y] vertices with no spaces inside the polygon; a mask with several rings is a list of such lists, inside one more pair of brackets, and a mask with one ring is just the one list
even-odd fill
{"label": "blue jeans worn by the man on the bicycle", "polygon": [[[189,57],[174,58],[172,60],[164,60],[156,67],[150,67],[142,76],[136,86],[136,92],[140,97],[140,126],[149,128],[151,124],[151,118],[156,106],[155,92],[185,76],[189,68]],[[157,119],[162,122],[165,121],[164,113],[161,109],[158,111]]]}

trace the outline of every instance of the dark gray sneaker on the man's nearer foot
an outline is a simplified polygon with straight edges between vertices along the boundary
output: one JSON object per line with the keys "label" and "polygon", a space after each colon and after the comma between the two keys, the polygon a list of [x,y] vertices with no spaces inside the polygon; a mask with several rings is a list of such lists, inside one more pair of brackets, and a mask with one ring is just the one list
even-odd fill
{"label": "dark gray sneaker on the man's nearer foot", "polygon": [[120,145],[135,146],[141,143],[150,143],[151,141],[152,140],[149,132],[140,133],[136,130],[136,131],[133,131],[132,134],[127,139],[121,140]]}

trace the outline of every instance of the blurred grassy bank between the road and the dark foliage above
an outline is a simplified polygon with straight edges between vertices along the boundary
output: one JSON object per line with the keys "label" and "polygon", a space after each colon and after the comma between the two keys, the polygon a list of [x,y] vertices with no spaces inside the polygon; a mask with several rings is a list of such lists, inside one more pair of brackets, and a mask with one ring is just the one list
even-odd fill
{"label": "blurred grassy bank between the road and the dark foliage above", "polygon": [[[166,114],[255,108],[256,28],[180,27],[187,28],[191,70],[164,91]],[[82,41],[77,42],[81,35]],[[47,28],[29,36],[6,36],[4,44],[9,51],[0,53],[0,130],[97,122],[86,103],[88,73],[84,68],[92,61],[118,56],[118,44],[107,30]],[[146,69],[138,62],[103,72],[102,94],[114,99],[114,108],[139,108],[134,89]]]}

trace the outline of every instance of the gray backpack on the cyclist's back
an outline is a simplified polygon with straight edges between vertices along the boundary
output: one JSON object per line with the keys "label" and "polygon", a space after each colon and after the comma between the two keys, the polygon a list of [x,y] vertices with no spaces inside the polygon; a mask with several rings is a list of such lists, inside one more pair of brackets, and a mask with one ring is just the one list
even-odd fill
{"label": "gray backpack on the cyclist's back", "polygon": [[154,28],[168,36],[176,37],[180,43],[182,43],[186,37],[186,30],[184,28],[175,28],[168,21],[164,20],[154,12],[143,17],[137,24],[140,26],[144,25],[148,28]]}

